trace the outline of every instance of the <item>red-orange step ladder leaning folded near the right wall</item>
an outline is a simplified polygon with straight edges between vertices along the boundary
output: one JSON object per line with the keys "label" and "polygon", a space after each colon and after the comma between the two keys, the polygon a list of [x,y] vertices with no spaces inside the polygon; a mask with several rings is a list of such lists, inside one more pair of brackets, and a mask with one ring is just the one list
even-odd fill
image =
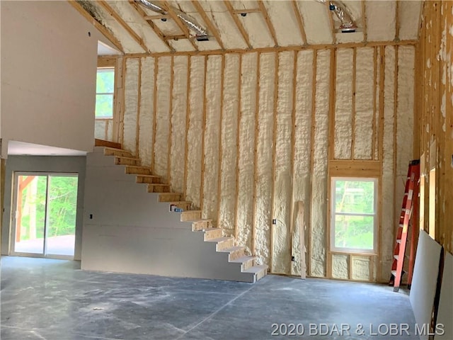
{"label": "red-orange step ladder leaning folded near the right wall", "polygon": [[396,233],[396,244],[394,249],[394,262],[391,265],[391,276],[389,285],[394,286],[394,292],[398,292],[403,276],[403,264],[406,257],[406,244],[408,243],[408,233],[411,232],[410,246],[411,251],[407,256],[408,265],[408,288],[411,288],[413,265],[415,259],[415,243],[418,236],[418,228],[411,228],[414,225],[415,218],[418,216],[418,192],[420,189],[420,160],[416,159],[409,162],[408,177],[406,180],[406,189],[404,192],[403,206],[399,217],[398,232]]}

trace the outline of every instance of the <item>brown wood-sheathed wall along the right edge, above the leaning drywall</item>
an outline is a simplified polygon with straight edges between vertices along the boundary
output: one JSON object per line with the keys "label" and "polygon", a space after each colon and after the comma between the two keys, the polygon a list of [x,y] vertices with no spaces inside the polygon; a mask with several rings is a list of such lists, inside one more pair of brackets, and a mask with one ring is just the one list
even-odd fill
{"label": "brown wood-sheathed wall along the right edge, above the leaning drywall", "polygon": [[[425,1],[416,64],[417,107],[414,153],[423,157],[425,188],[436,171],[435,239],[453,252],[453,1]],[[420,202],[429,232],[430,193]]]}

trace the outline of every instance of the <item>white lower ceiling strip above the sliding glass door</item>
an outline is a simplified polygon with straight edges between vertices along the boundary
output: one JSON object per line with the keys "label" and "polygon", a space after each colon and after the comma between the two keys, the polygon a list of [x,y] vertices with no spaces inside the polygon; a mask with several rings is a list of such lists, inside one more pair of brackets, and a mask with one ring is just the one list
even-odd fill
{"label": "white lower ceiling strip above the sliding glass door", "polygon": [[25,142],[10,140],[8,142],[8,155],[26,156],[86,156],[86,152],[79,150],[63,149],[62,147],[49,147]]}

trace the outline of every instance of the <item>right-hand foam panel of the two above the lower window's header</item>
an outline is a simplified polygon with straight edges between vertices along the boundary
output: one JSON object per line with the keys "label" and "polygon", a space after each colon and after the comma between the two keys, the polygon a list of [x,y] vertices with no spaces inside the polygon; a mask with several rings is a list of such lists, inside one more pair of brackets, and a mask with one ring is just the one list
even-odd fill
{"label": "right-hand foam panel of the two above the lower window's header", "polygon": [[356,60],[354,158],[372,159],[374,49],[357,48]]}

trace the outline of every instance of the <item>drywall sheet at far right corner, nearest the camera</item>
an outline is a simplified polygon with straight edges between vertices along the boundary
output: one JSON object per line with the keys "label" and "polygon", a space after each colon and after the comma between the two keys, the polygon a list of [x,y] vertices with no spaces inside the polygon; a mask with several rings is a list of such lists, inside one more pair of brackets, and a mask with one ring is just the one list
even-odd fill
{"label": "drywall sheet at far right corner, nearest the camera", "polygon": [[[437,312],[437,325],[442,327],[443,334],[438,332],[435,339],[453,339],[453,255],[445,251],[444,273],[440,288],[439,310]],[[441,326],[442,325],[442,326]],[[440,328],[439,328],[440,330]]]}

